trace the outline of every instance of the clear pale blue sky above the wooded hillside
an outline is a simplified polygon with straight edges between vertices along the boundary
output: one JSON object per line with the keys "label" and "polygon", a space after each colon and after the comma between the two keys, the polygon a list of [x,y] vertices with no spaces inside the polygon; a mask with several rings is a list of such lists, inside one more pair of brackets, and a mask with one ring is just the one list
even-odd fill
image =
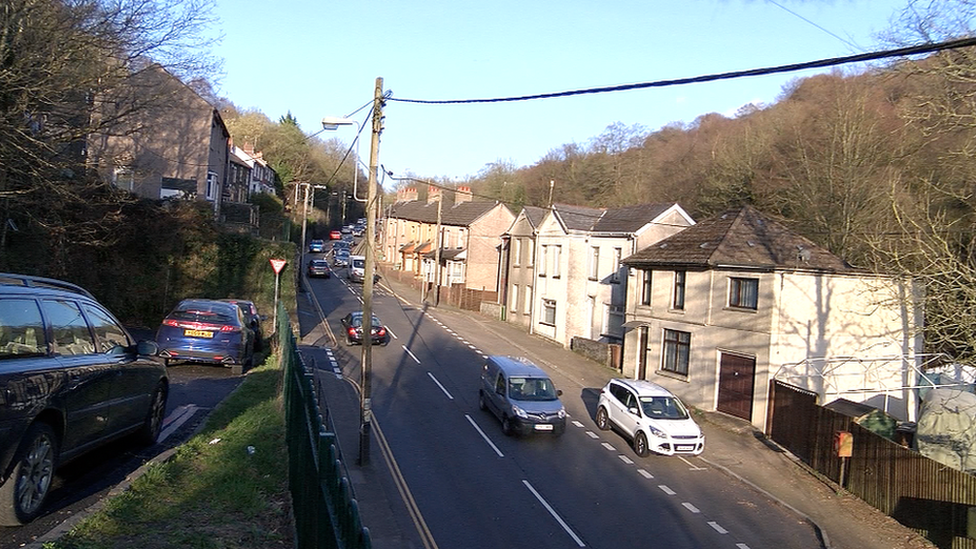
{"label": "clear pale blue sky above the wooded hillside", "polygon": [[[291,111],[312,133],[322,117],[369,103],[377,77],[398,98],[472,99],[872,51],[906,1],[217,0],[218,93],[273,120]],[[460,180],[497,161],[534,164],[617,122],[653,131],[712,112],[731,116],[818,72],[514,103],[389,102],[379,160],[396,175]],[[334,132],[347,143],[354,134]],[[368,161],[367,132],[359,152]]]}

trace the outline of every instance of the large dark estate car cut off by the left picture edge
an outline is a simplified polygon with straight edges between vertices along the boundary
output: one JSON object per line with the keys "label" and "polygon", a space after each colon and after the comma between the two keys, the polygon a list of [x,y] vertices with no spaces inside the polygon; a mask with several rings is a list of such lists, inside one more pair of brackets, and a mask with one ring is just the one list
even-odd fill
{"label": "large dark estate car cut off by the left picture edge", "polygon": [[0,274],[0,525],[37,517],[62,464],[124,435],[156,442],[158,354],[83,288]]}

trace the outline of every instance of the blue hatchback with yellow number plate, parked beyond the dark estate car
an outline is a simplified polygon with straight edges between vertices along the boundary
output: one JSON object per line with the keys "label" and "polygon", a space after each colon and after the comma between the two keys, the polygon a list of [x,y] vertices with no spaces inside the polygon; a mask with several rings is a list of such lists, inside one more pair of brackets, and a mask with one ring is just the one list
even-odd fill
{"label": "blue hatchback with yellow number plate, parked beyond the dark estate car", "polygon": [[254,358],[254,332],[239,307],[224,301],[184,299],[156,330],[167,362],[222,364],[241,374]]}

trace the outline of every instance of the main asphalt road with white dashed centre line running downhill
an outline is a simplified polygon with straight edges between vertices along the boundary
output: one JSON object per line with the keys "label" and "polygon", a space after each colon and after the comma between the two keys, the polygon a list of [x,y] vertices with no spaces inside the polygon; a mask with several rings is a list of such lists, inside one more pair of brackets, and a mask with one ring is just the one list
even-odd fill
{"label": "main asphalt road with white dashed centre line running downhill", "polygon": [[[329,327],[361,308],[345,269],[310,287]],[[374,313],[393,339],[372,352],[372,397],[428,546],[820,547],[810,526],[697,458],[639,458],[596,429],[599,387],[550,369],[570,426],[560,438],[505,437],[478,408],[483,359],[520,354],[470,315],[424,310],[377,289]],[[346,378],[360,379],[359,347],[340,338]],[[532,358],[531,356],[529,357]],[[707,444],[706,444],[707,453]]]}

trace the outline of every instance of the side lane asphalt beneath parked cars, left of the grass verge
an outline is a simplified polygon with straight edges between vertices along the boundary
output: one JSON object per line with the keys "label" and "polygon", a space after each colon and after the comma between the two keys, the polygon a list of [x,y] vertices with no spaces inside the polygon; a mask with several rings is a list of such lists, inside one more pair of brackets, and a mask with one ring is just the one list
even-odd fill
{"label": "side lane asphalt beneath parked cars, left of the grass verge", "polygon": [[[145,339],[143,334],[133,334]],[[149,335],[151,338],[151,334]],[[229,368],[177,364],[168,369],[166,420],[154,446],[126,438],[81,456],[58,469],[42,516],[20,527],[0,526],[0,549],[30,543],[108,494],[146,461],[187,440],[221,400],[240,384]]]}

